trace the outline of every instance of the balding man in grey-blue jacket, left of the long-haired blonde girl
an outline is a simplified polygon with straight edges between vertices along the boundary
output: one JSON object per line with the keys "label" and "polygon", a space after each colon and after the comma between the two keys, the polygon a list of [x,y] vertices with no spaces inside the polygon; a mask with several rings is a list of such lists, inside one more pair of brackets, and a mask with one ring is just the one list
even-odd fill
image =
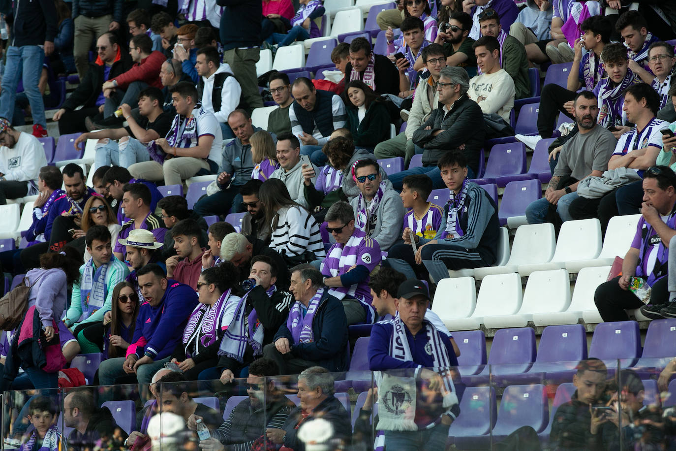
{"label": "balding man in grey-blue jacket, left of the long-haired blonde girl", "polygon": [[[233,206],[233,201],[239,195],[239,187],[251,179],[251,173],[256,166],[251,154],[251,136],[260,127],[251,124],[251,117],[246,110],[237,109],[228,116],[229,128],[237,135],[233,141],[227,143],[221,152],[222,172],[218,174],[216,184],[220,191],[203,197],[195,204],[195,212],[200,216],[225,215]],[[237,206],[235,206],[235,212]]]}

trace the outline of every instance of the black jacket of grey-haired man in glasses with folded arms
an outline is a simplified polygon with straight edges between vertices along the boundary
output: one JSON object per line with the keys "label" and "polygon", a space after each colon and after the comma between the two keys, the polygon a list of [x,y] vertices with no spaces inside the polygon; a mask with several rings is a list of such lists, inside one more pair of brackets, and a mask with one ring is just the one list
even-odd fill
{"label": "black jacket of grey-haired man in glasses with folded arms", "polygon": [[[429,126],[430,130],[425,130]],[[443,130],[437,136],[432,134]],[[475,174],[479,171],[479,151],[483,147],[485,132],[483,112],[479,104],[466,94],[453,103],[450,112],[443,110],[443,104],[432,111],[431,116],[413,133],[413,142],[424,147],[423,165],[436,166],[441,156],[464,144],[467,164]]]}

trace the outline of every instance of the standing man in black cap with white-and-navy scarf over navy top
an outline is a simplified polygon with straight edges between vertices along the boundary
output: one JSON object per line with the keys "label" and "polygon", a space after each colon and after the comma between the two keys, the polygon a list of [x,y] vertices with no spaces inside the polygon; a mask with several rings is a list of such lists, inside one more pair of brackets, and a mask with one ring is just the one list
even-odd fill
{"label": "standing man in black cap with white-and-navy scarf over navy top", "polygon": [[[393,385],[401,383],[400,378],[406,377],[407,373],[415,373],[416,379],[419,377],[428,383],[422,387],[416,384],[415,389],[404,389],[407,397],[415,399],[412,421],[405,420],[396,409],[391,412],[383,408],[379,410],[378,427],[384,430],[388,448],[394,443],[408,444],[410,449],[413,446],[443,448],[448,428],[460,414],[462,391],[456,389],[455,370],[452,369],[452,366],[458,366],[458,359],[448,335],[424,318],[430,303],[425,285],[419,280],[408,279],[399,287],[397,296],[395,306],[399,314],[391,321],[374,325],[368,343],[371,371],[400,369],[379,383],[379,398],[387,405],[390,401],[385,394]],[[392,343],[400,346],[392,346]],[[411,371],[414,369],[415,372]],[[412,430],[413,425],[417,430]]]}

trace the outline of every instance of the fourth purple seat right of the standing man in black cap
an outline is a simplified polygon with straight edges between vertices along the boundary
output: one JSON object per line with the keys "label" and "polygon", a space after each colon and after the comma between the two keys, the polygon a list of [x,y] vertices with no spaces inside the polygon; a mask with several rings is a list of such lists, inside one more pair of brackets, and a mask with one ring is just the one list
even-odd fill
{"label": "fourth purple seat right of the standing man in black cap", "polygon": [[634,366],[641,357],[641,334],[636,321],[613,321],[600,323],[594,329],[589,357],[600,358],[609,372],[617,369],[619,359],[621,368]]}

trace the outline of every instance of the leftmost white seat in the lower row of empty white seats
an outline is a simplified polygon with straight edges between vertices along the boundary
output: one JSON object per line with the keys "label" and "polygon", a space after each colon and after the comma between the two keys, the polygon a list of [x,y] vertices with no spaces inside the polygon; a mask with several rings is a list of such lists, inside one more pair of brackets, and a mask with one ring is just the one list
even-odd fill
{"label": "leftmost white seat in the lower row of empty white seats", "polygon": [[468,318],[477,304],[477,290],[473,277],[441,279],[432,303],[432,311],[441,321]]}

